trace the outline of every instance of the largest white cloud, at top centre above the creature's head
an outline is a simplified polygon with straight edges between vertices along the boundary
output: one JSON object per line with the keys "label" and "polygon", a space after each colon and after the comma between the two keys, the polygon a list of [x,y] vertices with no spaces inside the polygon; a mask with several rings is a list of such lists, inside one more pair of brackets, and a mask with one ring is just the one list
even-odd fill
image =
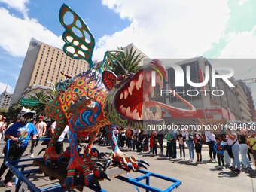
{"label": "largest white cloud, at top centre above the creature's head", "polygon": [[113,49],[133,42],[151,58],[200,56],[221,38],[229,19],[227,0],[103,0],[102,4],[132,21],[123,31],[100,39],[102,46]]}

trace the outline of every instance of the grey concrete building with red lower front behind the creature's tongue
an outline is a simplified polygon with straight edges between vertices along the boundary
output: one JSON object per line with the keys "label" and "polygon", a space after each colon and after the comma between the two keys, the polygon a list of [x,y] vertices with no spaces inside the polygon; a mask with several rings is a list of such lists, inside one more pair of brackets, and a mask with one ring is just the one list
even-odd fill
{"label": "grey concrete building with red lower front behind the creature's tongue", "polygon": [[[163,63],[165,63],[164,60]],[[230,78],[230,82],[233,83],[235,87],[230,87],[221,78],[216,79],[216,86],[212,87],[212,65],[206,58],[200,56],[183,61],[173,61],[173,63],[181,66],[183,69],[184,86],[175,86],[175,70],[171,67],[166,68],[168,81],[164,81],[163,90],[172,88],[172,90],[175,90],[175,93],[178,93],[181,97],[194,105],[197,112],[193,115],[184,115],[172,111],[162,111],[166,123],[197,124],[200,119],[204,119],[205,122],[209,120],[220,120],[221,122],[221,120],[244,120],[244,117],[250,116],[247,96],[234,78]],[[204,77],[206,77],[206,66],[208,66],[208,83],[204,87],[190,86],[186,79],[187,66],[190,66],[190,81],[194,83],[203,82]],[[218,74],[218,72],[216,74]],[[207,91],[204,92],[203,90]],[[157,92],[160,93],[159,86],[157,86]],[[158,94],[156,99],[177,108],[190,109],[172,93],[163,94],[162,96]],[[251,121],[251,119],[248,119],[248,121]]]}

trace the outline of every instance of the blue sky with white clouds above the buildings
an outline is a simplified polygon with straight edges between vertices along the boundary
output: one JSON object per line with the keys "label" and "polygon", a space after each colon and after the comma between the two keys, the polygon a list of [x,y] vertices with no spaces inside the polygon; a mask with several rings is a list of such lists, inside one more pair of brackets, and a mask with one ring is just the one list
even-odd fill
{"label": "blue sky with white clouds above the buildings", "polygon": [[[62,49],[60,0],[0,0],[0,93],[14,93],[31,38]],[[256,78],[254,0],[66,0],[96,40],[93,59],[133,43],[149,58],[240,59],[234,78]],[[242,59],[242,61],[241,61]],[[247,60],[250,62],[247,62]],[[251,59],[255,59],[255,62]],[[214,65],[214,64],[213,64]],[[216,64],[218,65],[218,64]],[[248,84],[256,99],[256,84]]]}

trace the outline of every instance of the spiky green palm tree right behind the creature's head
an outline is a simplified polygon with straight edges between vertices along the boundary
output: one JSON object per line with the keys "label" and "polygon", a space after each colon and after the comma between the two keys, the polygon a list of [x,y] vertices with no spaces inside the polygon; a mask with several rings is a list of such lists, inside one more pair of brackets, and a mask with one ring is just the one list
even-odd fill
{"label": "spiky green palm tree right behind the creature's head", "polygon": [[[123,50],[123,47],[117,47],[117,49]],[[120,59],[117,61],[118,64],[114,63],[112,72],[114,72],[117,76],[125,74],[126,72],[136,73],[139,69],[142,69],[143,67],[139,66],[139,62],[141,62],[143,58],[144,56],[141,56],[141,53],[136,55],[136,50],[133,51],[133,47],[130,49],[130,51],[126,49],[123,56],[121,56]],[[126,72],[124,72],[124,70],[126,70]]]}

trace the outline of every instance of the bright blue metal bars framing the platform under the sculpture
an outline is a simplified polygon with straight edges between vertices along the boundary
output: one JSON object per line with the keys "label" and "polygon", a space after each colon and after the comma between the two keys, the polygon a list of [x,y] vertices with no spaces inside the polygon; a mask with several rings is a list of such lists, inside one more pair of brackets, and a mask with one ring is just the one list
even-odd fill
{"label": "bright blue metal bars framing the platform under the sculpture", "polygon": [[[31,139],[28,139],[28,140],[31,140]],[[7,143],[8,143],[8,145],[7,145],[8,148],[7,148],[7,155],[6,155],[6,157],[8,157],[9,140],[8,140]],[[62,192],[62,191],[67,191],[66,188],[61,187],[60,184],[54,185],[52,187],[47,187],[47,188],[44,188],[44,189],[38,189],[38,187],[36,187],[35,184],[32,184],[32,182],[29,181],[29,175],[31,173],[38,173],[38,172],[40,172],[40,169],[24,170],[26,167],[32,166],[32,164],[31,163],[26,163],[25,165],[24,164],[23,165],[18,165],[18,163],[26,162],[26,161],[32,161],[32,160],[35,160],[35,159],[42,159],[42,158],[29,158],[29,159],[23,159],[23,160],[5,161],[5,165],[8,166],[8,168],[11,170],[11,172],[14,172],[14,175],[17,176],[15,191],[18,191],[20,189],[21,182],[26,183],[28,188],[29,188],[29,190],[30,191],[35,191],[35,192],[40,192],[40,191],[44,191],[44,192],[46,192],[46,191],[47,192],[60,191],[60,192]],[[20,169],[20,171],[19,171],[19,169]],[[142,173],[144,175],[141,175],[141,176],[139,176],[137,178],[131,178],[130,174],[127,173],[129,178],[126,178],[123,175],[117,176],[116,178],[120,179],[121,181],[125,181],[127,183],[133,184],[134,187],[136,187],[137,191],[139,191],[138,187],[142,187],[142,188],[144,188],[146,190],[146,192],[148,192],[148,191],[153,191],[153,192],[171,192],[172,190],[175,190],[175,188],[177,188],[178,186],[181,185],[181,181],[176,180],[174,178],[168,178],[168,177],[163,176],[163,175],[158,175],[158,174],[155,174],[153,172],[145,171],[144,169],[143,170],[139,169],[138,172],[140,172],[140,173]],[[159,190],[159,189],[157,189],[155,187],[151,187],[150,186],[150,177],[160,178],[160,179],[169,181],[172,184],[166,190]],[[142,184],[141,182],[139,182],[139,181],[142,181],[143,179],[146,180],[146,184]],[[97,189],[94,186],[85,186],[85,187],[88,187],[88,188],[90,188],[91,190],[94,190],[94,191],[107,192],[107,190],[103,190],[103,189],[99,190],[99,189]]]}

